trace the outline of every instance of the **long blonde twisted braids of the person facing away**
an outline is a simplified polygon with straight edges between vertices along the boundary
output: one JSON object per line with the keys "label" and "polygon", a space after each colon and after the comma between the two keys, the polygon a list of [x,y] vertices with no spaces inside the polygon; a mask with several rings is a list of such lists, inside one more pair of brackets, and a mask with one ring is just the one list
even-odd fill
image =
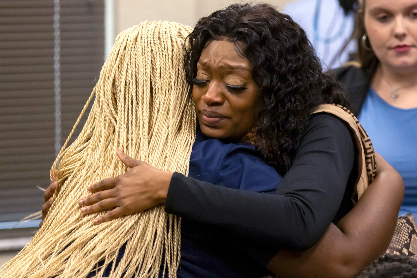
{"label": "long blonde twisted braids of the person facing away", "polygon": [[[87,187],[128,169],[116,148],[158,169],[188,173],[195,139],[195,110],[183,68],[184,40],[192,28],[143,22],[116,38],[81,115],[51,170],[58,165],[55,202],[42,228],[0,270],[0,277],[176,277],[180,219],[162,205],[93,225],[77,201]],[[88,119],[67,147],[95,95]],[[116,267],[119,249],[125,253]]]}

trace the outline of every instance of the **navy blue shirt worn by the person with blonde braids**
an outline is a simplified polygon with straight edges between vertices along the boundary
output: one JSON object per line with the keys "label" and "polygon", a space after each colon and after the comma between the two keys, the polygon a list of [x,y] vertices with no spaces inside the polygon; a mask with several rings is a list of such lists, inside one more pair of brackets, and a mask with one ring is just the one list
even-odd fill
{"label": "navy blue shirt worn by the person with blonde braids", "polygon": [[[228,188],[264,193],[275,193],[282,180],[254,145],[205,138],[201,132],[197,133],[191,152],[189,176]],[[183,219],[178,277],[253,278],[270,274],[235,243],[234,236],[216,225]]]}

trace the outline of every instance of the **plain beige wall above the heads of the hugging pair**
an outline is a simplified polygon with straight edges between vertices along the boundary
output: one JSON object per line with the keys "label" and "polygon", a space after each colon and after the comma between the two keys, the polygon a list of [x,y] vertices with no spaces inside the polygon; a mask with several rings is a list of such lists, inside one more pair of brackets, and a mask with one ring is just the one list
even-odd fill
{"label": "plain beige wall above the heads of the hugging pair", "polygon": [[[294,0],[255,0],[251,3],[270,3],[282,8],[292,1]],[[193,26],[198,18],[236,2],[242,3],[236,0],[114,0],[114,30],[117,35],[143,20],[168,20]]]}

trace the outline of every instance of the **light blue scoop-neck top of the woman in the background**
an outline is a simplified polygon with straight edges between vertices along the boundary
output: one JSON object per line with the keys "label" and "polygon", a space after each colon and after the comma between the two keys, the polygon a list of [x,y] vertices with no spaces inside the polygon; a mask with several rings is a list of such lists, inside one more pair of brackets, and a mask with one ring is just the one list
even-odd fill
{"label": "light blue scoop-neck top of the woman in the background", "polygon": [[374,149],[402,176],[404,200],[399,215],[417,217],[417,108],[389,105],[372,88],[358,117]]}

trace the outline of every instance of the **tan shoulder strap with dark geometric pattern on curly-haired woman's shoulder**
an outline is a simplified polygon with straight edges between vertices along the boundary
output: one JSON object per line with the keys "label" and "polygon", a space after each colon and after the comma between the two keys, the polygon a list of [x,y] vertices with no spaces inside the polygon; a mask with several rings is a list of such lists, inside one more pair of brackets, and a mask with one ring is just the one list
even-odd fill
{"label": "tan shoulder strap with dark geometric pattern on curly-haired woman's shoulder", "polygon": [[369,136],[358,119],[347,108],[337,104],[322,104],[313,113],[329,113],[341,119],[349,128],[358,150],[358,177],[352,200],[354,203],[361,198],[369,183],[374,180],[376,170],[375,151]]}

